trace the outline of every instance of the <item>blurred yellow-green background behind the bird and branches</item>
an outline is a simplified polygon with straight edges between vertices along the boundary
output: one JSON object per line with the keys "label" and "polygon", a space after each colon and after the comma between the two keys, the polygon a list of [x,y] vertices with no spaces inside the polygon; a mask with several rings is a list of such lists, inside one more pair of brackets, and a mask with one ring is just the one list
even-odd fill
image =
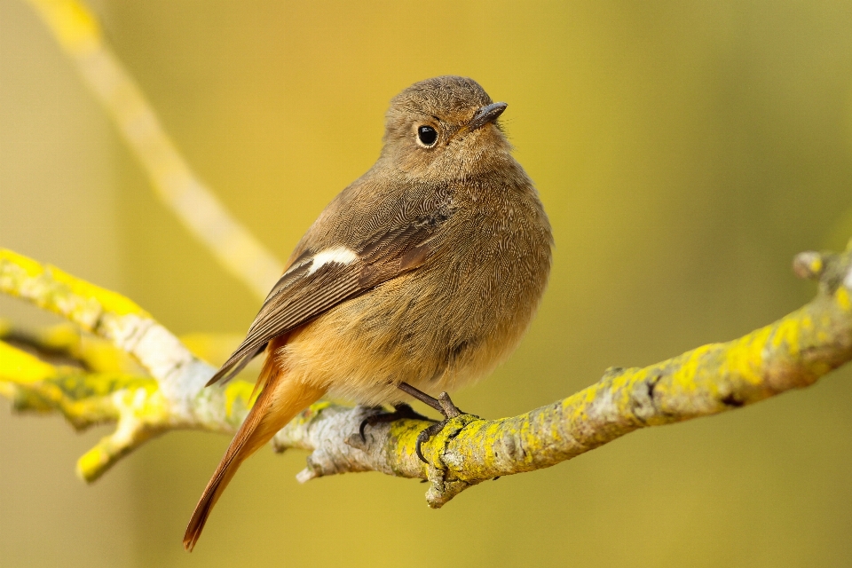
{"label": "blurred yellow-green background behind the bird and branches", "polygon": [[[742,335],[807,301],[790,261],[852,236],[852,4],[93,4],[188,161],[280,258],[379,152],[389,99],[474,77],[556,233],[538,318],[454,399],[486,417]],[[0,0],[0,246],[114,288],[177,333],[258,307],[164,210],[28,5]],[[52,321],[0,298],[22,325]],[[378,474],[241,469],[199,546],[185,523],[228,438],[174,432],[92,486],[106,432],[0,410],[4,566],[852,565],[852,370],[636,432],[441,510]]]}

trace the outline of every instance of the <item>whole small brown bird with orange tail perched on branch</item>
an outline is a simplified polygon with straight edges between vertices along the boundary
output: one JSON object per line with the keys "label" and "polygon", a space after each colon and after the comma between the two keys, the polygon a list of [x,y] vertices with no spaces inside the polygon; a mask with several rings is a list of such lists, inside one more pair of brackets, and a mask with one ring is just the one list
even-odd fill
{"label": "whole small brown bird with orange tail perched on branch", "polygon": [[290,256],[248,335],[208,384],[266,351],[260,390],[186,527],[192,550],[242,461],[325,394],[398,404],[487,374],[517,345],[553,237],[472,79],[414,83],[390,101],[375,165]]}

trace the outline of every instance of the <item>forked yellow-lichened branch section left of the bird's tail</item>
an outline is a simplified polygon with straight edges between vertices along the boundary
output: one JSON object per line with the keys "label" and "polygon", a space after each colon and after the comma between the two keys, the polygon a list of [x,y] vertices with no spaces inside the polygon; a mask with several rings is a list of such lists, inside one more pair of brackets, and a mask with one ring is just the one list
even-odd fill
{"label": "forked yellow-lichened branch section left of the bird's tail", "polygon": [[[99,477],[154,434],[176,428],[232,432],[245,416],[251,384],[204,389],[215,369],[126,297],[4,249],[0,249],[0,292],[68,319],[114,350],[129,354],[147,373],[146,383],[139,383],[138,375],[130,374],[114,353],[112,363],[108,353],[93,359],[91,350],[79,352],[80,347],[67,338],[54,337],[53,343],[45,337],[34,339],[41,347],[61,347],[72,355],[78,351],[78,360],[87,363],[83,367],[88,370],[52,366],[4,343],[0,394],[29,401],[18,407],[52,407],[81,427],[118,422],[117,430],[78,462],[84,479]],[[43,351],[38,347],[35,351]]]}

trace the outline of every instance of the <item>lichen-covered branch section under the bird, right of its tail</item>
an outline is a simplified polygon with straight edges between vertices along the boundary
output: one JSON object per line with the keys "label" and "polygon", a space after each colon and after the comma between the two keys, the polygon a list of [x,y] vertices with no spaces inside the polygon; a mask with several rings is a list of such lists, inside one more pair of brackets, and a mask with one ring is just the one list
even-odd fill
{"label": "lichen-covered branch section under the bird, right of its tail", "polygon": [[817,297],[800,310],[656,365],[613,367],[587,389],[519,416],[462,414],[430,441],[428,466],[414,451],[425,422],[377,425],[362,441],[353,432],[363,409],[315,408],[282,430],[276,444],[314,450],[303,480],[368,469],[427,478],[427,501],[440,507],[470,485],[556,465],[645,426],[718,414],[809,386],[852,359],[852,243],[842,255],[802,253],[793,268],[819,281]]}

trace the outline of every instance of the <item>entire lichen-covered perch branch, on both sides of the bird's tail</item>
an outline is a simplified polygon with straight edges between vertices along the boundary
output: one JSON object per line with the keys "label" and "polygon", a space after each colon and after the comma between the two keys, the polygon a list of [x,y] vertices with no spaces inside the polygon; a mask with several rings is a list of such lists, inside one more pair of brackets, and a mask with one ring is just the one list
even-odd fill
{"label": "entire lichen-covered perch branch, on both sides of the bird's tail", "polygon": [[[364,406],[315,404],[281,430],[273,446],[312,451],[300,481],[368,470],[429,480],[426,498],[437,508],[486,479],[546,468],[645,426],[718,414],[809,386],[852,359],[852,242],[840,255],[801,253],[793,268],[819,282],[817,297],[800,310],[734,341],[650,367],[608,369],[587,389],[525,414],[493,421],[456,416],[424,445],[429,463],[415,448],[430,422],[379,422],[368,425],[362,438],[362,423],[378,412]],[[233,432],[245,417],[252,385],[235,381],[204,389],[214,368],[127,298],[2,250],[0,291],[108,340],[150,375],[109,365],[53,365],[0,343],[0,394],[16,408],[58,411],[77,428],[117,422],[115,432],[78,461],[84,479],[99,477],[162,432]],[[10,335],[8,326],[4,334]],[[51,347],[46,339],[41,343],[42,350]]]}

